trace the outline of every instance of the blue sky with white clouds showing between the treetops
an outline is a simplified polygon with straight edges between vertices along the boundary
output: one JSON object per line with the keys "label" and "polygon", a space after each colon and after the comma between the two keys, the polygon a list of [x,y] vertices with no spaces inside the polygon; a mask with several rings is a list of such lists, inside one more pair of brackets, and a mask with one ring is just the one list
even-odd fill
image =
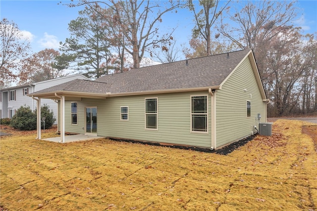
{"label": "blue sky with white clouds showing between the treetops", "polygon": [[[61,0],[62,3],[67,1]],[[70,37],[68,23],[78,17],[83,7],[67,7],[56,0],[0,0],[0,17],[15,22],[19,29],[31,39],[33,53],[46,48],[58,50],[60,41]],[[69,2],[69,1],[68,1]],[[304,33],[317,32],[317,0],[299,0],[297,7],[302,9],[294,23],[304,29]],[[188,44],[193,18],[188,10],[169,14],[163,18],[165,29],[178,26],[174,37],[178,45]]]}

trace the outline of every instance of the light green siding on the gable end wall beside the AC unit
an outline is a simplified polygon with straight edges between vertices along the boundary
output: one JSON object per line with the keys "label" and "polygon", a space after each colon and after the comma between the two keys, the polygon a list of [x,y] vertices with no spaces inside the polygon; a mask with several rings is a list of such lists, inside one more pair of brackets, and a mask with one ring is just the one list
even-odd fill
{"label": "light green siding on the gable end wall beside the AC unit", "polygon": [[[250,117],[247,117],[247,101],[251,102]],[[216,93],[216,147],[256,132],[254,126],[259,128],[259,121],[256,122],[258,113],[262,114],[261,120],[264,121],[265,102],[247,57]]]}

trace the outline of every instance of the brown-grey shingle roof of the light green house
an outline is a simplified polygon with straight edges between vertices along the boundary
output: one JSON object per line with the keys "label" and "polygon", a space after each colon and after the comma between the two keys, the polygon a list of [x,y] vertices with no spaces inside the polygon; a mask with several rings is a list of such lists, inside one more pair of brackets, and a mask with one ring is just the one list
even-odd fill
{"label": "brown-grey shingle roof of the light green house", "polygon": [[[124,95],[153,91],[185,91],[207,87],[217,89],[250,54],[253,56],[252,50],[247,49],[136,68],[123,73],[105,75],[95,81],[76,79],[33,94],[40,96],[41,93],[43,95],[54,92],[81,92]],[[261,81],[260,76],[259,80]]]}

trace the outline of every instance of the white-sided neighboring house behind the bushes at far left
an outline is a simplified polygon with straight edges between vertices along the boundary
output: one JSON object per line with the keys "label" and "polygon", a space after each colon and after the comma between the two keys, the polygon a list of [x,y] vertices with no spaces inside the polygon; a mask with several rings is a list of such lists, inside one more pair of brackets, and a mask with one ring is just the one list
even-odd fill
{"label": "white-sided neighboring house behind the bushes at far left", "polygon": [[[0,118],[12,118],[15,111],[21,106],[30,106],[32,110],[36,109],[36,101],[30,98],[29,94],[34,92],[62,84],[74,79],[90,80],[87,77],[76,74],[68,75],[65,77],[55,78],[47,81],[41,81],[31,84],[25,84],[21,86],[9,87],[0,90]],[[57,103],[51,99],[45,99],[41,105],[47,104],[50,109],[53,109],[55,118],[57,117]],[[56,118],[57,119],[57,118]]]}

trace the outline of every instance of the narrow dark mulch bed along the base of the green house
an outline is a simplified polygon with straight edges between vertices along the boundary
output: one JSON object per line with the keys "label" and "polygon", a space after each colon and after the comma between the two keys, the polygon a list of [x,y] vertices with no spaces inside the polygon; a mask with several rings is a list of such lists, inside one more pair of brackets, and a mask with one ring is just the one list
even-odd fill
{"label": "narrow dark mulch bed along the base of the green house", "polygon": [[177,148],[177,149],[185,149],[185,150],[194,150],[198,152],[204,152],[204,153],[216,153],[220,155],[228,155],[232,153],[234,150],[238,149],[239,147],[242,147],[249,141],[253,140],[256,135],[249,136],[245,139],[242,139],[240,141],[234,142],[228,146],[225,146],[219,150],[210,150],[206,148],[199,148],[199,147],[186,147],[186,146],[179,146],[179,145],[164,145],[164,144],[159,144],[159,143],[153,143],[153,142],[143,142],[143,141],[135,141],[135,140],[128,140],[128,139],[116,139],[116,138],[110,138],[110,140],[113,141],[121,141],[121,142],[129,142],[129,143],[139,143],[139,144],[147,144],[147,145],[152,145],[152,146],[162,146],[162,147],[170,147],[170,148]]}

